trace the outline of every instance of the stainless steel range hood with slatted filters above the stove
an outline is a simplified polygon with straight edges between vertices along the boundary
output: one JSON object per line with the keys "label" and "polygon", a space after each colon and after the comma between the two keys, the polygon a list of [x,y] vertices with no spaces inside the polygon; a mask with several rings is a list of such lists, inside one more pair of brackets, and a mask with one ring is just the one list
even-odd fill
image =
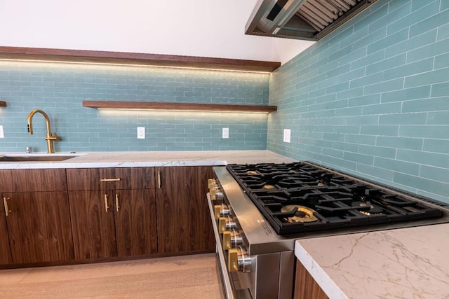
{"label": "stainless steel range hood with slatted filters above the stove", "polygon": [[376,0],[259,0],[246,34],[318,41]]}

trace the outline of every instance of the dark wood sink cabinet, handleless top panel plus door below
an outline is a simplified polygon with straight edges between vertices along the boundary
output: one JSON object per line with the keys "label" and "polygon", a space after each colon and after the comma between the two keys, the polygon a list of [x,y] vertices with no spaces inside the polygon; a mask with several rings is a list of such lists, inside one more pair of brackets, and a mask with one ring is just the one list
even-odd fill
{"label": "dark wood sink cabinet, handleless top panel plus door below", "polygon": [[74,260],[65,169],[1,169],[0,176],[0,239],[6,238],[7,227],[11,247],[8,258],[6,246],[0,245],[2,262]]}

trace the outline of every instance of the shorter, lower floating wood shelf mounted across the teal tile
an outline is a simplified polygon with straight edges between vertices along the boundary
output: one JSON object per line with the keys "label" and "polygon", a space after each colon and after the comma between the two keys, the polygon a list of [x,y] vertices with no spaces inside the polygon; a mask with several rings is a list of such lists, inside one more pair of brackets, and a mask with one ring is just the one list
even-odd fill
{"label": "shorter, lower floating wood shelf mounted across the teal tile", "polygon": [[166,102],[83,101],[83,106],[96,108],[96,109],[234,111],[234,112],[259,112],[259,113],[270,113],[270,112],[277,111],[277,106],[166,103]]}

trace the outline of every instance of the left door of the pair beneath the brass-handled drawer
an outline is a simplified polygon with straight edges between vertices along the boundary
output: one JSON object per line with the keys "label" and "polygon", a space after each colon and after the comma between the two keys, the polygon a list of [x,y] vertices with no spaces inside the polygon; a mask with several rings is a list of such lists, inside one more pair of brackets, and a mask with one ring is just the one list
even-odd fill
{"label": "left door of the pair beneath the brass-handled drawer", "polygon": [[76,260],[117,256],[111,191],[70,191]]}

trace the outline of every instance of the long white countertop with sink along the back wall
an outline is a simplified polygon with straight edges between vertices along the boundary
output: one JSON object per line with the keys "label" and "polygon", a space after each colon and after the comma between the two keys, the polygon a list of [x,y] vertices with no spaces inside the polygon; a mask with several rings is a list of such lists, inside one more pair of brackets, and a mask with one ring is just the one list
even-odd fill
{"label": "long white countertop with sink along the back wall", "polygon": [[[0,158],[4,155],[14,156],[25,154],[0,153]],[[206,166],[296,161],[273,153],[272,151],[149,151],[29,154],[29,156],[34,157],[37,155],[74,155],[74,158],[54,162],[0,162],[0,169]]]}

